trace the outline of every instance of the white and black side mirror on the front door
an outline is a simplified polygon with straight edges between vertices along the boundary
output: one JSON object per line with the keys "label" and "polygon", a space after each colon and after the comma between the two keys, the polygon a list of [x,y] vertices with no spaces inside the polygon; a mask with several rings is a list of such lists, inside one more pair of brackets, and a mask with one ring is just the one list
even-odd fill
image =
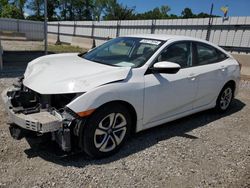
{"label": "white and black side mirror on the front door", "polygon": [[181,66],[177,63],[172,63],[168,61],[161,61],[155,63],[151,70],[154,73],[166,73],[166,74],[175,74],[181,69]]}

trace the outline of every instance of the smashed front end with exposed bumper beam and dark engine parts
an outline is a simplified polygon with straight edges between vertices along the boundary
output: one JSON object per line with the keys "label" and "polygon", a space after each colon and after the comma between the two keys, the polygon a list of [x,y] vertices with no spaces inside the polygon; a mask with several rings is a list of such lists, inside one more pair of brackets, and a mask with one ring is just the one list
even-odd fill
{"label": "smashed front end with exposed bumper beam and dark engine parts", "polygon": [[12,137],[17,140],[45,137],[57,142],[63,151],[78,151],[81,149],[79,130],[84,119],[66,107],[76,97],[77,94],[39,94],[26,88],[21,78],[13,88],[2,93]]}

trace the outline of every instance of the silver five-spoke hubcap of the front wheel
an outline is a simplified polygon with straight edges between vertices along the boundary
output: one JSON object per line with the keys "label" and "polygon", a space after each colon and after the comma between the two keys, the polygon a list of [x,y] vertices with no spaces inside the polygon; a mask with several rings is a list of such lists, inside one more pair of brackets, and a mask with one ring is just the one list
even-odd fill
{"label": "silver five-spoke hubcap of the front wheel", "polygon": [[126,118],[121,113],[111,113],[104,117],[95,131],[95,147],[101,152],[115,149],[125,137],[126,125]]}

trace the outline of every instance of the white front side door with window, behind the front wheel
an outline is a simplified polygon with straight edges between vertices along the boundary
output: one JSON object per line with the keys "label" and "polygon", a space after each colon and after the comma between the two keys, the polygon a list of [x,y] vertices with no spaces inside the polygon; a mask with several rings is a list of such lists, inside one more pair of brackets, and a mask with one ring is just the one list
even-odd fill
{"label": "white front side door with window, behind the front wheel", "polygon": [[192,56],[191,42],[177,42],[165,48],[156,61],[179,64],[181,69],[177,73],[147,71],[144,78],[144,125],[192,110],[198,86]]}

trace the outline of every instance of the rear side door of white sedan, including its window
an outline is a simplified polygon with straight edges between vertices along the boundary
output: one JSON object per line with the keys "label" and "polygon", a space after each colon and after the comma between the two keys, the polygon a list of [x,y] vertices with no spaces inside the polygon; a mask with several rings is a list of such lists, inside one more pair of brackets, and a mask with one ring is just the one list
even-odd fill
{"label": "rear side door of white sedan, including its window", "polygon": [[209,105],[218,97],[224,84],[227,55],[205,43],[194,42],[194,67],[198,90],[194,108]]}

